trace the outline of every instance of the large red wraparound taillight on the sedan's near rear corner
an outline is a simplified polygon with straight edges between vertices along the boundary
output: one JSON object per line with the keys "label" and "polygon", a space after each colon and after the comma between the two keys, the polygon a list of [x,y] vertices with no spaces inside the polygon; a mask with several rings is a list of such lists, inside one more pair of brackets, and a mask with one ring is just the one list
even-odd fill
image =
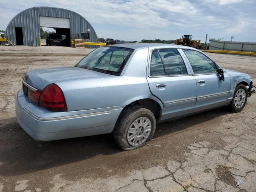
{"label": "large red wraparound taillight on the sedan's near rear corner", "polygon": [[42,91],[39,106],[50,111],[66,111],[66,101],[62,90],[56,84],[50,84]]}

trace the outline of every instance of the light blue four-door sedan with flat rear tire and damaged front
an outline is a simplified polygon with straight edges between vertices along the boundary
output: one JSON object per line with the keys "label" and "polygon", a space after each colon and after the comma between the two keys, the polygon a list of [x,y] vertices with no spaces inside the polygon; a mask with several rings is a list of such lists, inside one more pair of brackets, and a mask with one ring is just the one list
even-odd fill
{"label": "light blue four-door sedan with flat rear tire and damaged front", "polygon": [[250,76],[221,69],[194,48],[119,44],[74,67],[30,70],[16,96],[20,126],[35,140],[106,134],[123,150],[144,146],[156,123],[230,106],[255,92]]}

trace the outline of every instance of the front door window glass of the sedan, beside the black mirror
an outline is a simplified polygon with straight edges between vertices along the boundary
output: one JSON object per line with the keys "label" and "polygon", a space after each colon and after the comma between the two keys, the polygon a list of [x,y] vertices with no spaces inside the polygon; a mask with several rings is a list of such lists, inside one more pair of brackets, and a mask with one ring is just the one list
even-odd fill
{"label": "front door window glass of the sedan, beside the black mirror", "polygon": [[217,72],[214,62],[206,57],[204,54],[198,51],[188,49],[183,49],[183,52],[186,54],[194,71],[194,74]]}

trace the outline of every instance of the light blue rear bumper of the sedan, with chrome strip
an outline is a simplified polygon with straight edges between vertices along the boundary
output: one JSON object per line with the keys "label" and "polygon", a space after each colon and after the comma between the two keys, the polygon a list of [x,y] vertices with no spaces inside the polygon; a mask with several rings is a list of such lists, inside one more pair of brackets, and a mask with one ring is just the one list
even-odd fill
{"label": "light blue rear bumper of the sedan, with chrome strip", "polygon": [[31,104],[22,90],[17,93],[15,106],[16,118],[22,129],[39,141],[110,133],[124,107],[49,112]]}

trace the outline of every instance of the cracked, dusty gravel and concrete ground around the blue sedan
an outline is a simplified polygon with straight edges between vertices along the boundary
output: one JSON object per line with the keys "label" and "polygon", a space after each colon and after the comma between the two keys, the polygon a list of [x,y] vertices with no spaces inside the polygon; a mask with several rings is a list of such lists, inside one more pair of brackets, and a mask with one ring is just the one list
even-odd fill
{"label": "cracked, dusty gravel and concrete ground around the blue sedan", "polygon": [[[120,150],[111,134],[30,138],[15,118],[24,72],[74,66],[91,51],[0,46],[0,192],[256,192],[256,95],[240,113],[219,108],[158,124],[153,140],[132,151]],[[256,82],[255,57],[208,55]]]}

